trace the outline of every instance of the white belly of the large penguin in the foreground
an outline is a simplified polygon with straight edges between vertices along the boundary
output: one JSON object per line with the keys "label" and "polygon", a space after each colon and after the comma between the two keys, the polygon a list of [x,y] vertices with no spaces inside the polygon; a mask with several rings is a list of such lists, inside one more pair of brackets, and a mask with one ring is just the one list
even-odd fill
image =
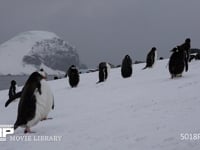
{"label": "white belly of the large penguin in the foreground", "polygon": [[53,105],[53,93],[44,79],[41,80],[41,95],[38,90],[35,91],[36,97],[36,110],[35,117],[27,122],[27,126],[31,127],[36,125],[39,121],[46,118]]}

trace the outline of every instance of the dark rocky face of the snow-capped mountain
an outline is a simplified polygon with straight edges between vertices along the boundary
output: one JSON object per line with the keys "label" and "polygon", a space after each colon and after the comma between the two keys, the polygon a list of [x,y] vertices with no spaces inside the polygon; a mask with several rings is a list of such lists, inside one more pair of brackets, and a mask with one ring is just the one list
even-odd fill
{"label": "dark rocky face of the snow-capped mountain", "polygon": [[36,42],[31,51],[23,57],[23,62],[34,66],[44,64],[63,72],[71,65],[80,66],[76,48],[56,37]]}

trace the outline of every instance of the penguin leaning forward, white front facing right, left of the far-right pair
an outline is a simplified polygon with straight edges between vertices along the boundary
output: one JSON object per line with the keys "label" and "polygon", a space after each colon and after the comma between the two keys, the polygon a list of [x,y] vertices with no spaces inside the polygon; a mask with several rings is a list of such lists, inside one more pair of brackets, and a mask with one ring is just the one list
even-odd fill
{"label": "penguin leaning forward, white front facing right, left of the far-right pair", "polygon": [[157,50],[155,47],[152,47],[150,52],[147,54],[146,66],[143,69],[152,68],[156,60],[157,60]]}

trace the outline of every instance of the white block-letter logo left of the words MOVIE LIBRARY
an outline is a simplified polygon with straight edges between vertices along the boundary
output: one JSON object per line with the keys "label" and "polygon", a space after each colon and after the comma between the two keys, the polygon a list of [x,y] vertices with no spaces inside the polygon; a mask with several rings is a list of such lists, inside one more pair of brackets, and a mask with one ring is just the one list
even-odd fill
{"label": "white block-letter logo left of the words MOVIE LIBRARY", "polygon": [[0,125],[0,141],[6,141],[9,134],[14,134],[13,125]]}

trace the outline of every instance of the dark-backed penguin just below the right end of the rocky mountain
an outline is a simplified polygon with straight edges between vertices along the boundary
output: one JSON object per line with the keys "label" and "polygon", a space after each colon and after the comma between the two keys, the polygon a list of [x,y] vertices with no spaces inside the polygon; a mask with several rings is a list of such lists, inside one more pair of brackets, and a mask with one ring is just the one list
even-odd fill
{"label": "dark-backed penguin just below the right end of the rocky mountain", "polygon": [[79,83],[79,72],[75,65],[71,65],[67,71],[67,75],[69,77],[69,84],[70,86],[77,87]]}

